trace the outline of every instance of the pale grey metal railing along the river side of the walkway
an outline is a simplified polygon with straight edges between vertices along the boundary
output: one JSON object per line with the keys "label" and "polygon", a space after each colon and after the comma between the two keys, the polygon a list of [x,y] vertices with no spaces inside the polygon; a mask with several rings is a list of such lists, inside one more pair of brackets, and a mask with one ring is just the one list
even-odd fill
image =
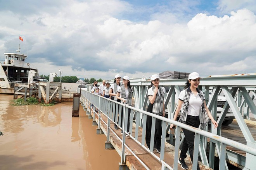
{"label": "pale grey metal railing along the river side of the walkway", "polygon": [[[171,87],[171,88],[175,88],[175,87]],[[214,87],[215,92],[213,92],[213,98],[214,98],[214,94],[216,95],[216,91],[218,91],[218,88],[220,88],[220,87]],[[229,96],[237,90],[237,88],[232,88],[232,90],[230,92],[231,94],[230,94],[230,93],[227,93],[227,91],[229,91],[227,87],[223,86],[222,89],[225,93],[225,96],[226,95]],[[240,87],[240,89],[244,90],[243,87]],[[170,91],[169,91],[169,93],[170,93]],[[233,100],[233,97],[230,96],[230,99]],[[214,147],[216,146],[216,150],[218,151],[218,156],[220,158],[220,169],[223,169],[223,170],[225,168],[228,169],[227,163],[225,162],[226,146],[227,145],[237,148],[241,151],[245,151],[250,160],[256,160],[256,145],[253,142],[250,142],[249,145],[248,145],[248,143],[247,143],[247,145],[244,145],[242,143],[238,143],[238,142],[232,141],[230,139],[223,138],[217,134],[209,133],[207,131],[202,131],[200,129],[193,128],[193,127],[187,126],[185,124],[173,121],[166,117],[157,116],[155,114],[146,112],[142,109],[138,109],[136,107],[131,107],[131,106],[124,105],[124,104],[121,104],[121,103],[113,101],[113,100],[106,99],[104,97],[95,95],[95,94],[90,93],[85,90],[81,91],[81,100],[84,103],[84,105],[86,105],[87,107],[88,106],[90,107],[90,105],[93,104],[95,107],[97,107],[99,109],[99,112],[97,113],[95,110],[95,107],[94,107],[95,114],[97,114],[99,116],[99,122],[97,123],[99,126],[98,129],[100,129],[100,119],[101,119],[100,114],[104,114],[105,116],[108,117],[107,122],[105,122],[102,119],[102,122],[104,122],[104,124],[107,125],[107,142],[110,141],[110,131],[112,131],[118,137],[118,139],[122,142],[122,152],[121,152],[121,162],[122,163],[125,163],[125,148],[127,148],[140,161],[140,163],[142,163],[142,165],[146,169],[149,169],[149,167],[147,167],[147,165],[145,165],[144,162],[142,160],[140,160],[140,158],[138,158],[138,156],[136,156],[136,154],[133,152],[133,150],[131,148],[129,148],[128,145],[125,144],[125,136],[127,134],[130,136],[130,138],[132,138],[135,142],[137,142],[138,145],[142,146],[145,150],[147,150],[150,154],[152,154],[157,160],[159,160],[162,163],[162,169],[166,169],[166,168],[177,169],[178,168],[178,151],[179,151],[179,146],[180,146],[180,140],[177,140],[177,139],[180,139],[181,128],[188,129],[189,131],[192,131],[195,133],[194,155],[196,155],[196,156],[194,156],[194,160],[193,160],[193,170],[196,169],[195,166],[197,165],[196,162],[198,160],[197,155],[198,155],[199,151],[200,151],[200,155],[202,158],[202,162],[205,165],[209,166],[209,162],[208,162],[208,159],[206,156],[206,150],[205,150],[206,138],[211,139],[210,141],[214,141],[214,143],[216,144],[216,145],[214,145]],[[232,110],[235,109],[234,106],[231,105],[231,107],[232,107]],[[122,109],[123,109],[123,124],[121,126],[121,117],[122,117],[121,110]],[[130,129],[129,129],[130,133],[128,133],[128,131],[126,130],[127,123],[128,123],[128,109],[131,109]],[[95,114],[93,114],[93,121],[95,121]],[[119,114],[119,116],[118,116],[118,114]],[[146,124],[147,116],[152,116],[152,129],[151,129],[152,135],[151,135],[151,139],[150,139],[149,148],[147,147],[147,145],[145,145],[145,132],[146,132],[145,126],[141,126],[143,124],[144,125]],[[160,153],[159,157],[153,153],[154,148],[153,148],[153,145],[151,145],[154,143],[154,124],[156,122],[156,119],[160,119],[162,121],[162,128],[163,128],[161,153]],[[135,120],[135,122],[133,122],[134,120]],[[118,124],[119,128],[121,128],[123,130],[122,138],[119,138],[118,134],[116,134],[115,131],[112,130],[112,128],[110,127],[110,122],[114,122],[115,124]],[[135,129],[133,129],[134,134],[132,131],[133,123],[135,124]],[[164,146],[165,146],[165,141],[166,141],[166,130],[168,130],[168,124],[170,124],[170,123],[176,125],[175,155],[174,155],[173,167],[170,167],[170,165],[168,165],[168,163],[166,163],[164,161]],[[139,138],[139,135],[138,135],[140,132],[142,132],[141,138]],[[215,148],[214,148],[214,151],[215,151]],[[247,162],[246,166],[247,166],[247,168],[252,169],[251,167],[254,166],[253,164],[254,163]]]}

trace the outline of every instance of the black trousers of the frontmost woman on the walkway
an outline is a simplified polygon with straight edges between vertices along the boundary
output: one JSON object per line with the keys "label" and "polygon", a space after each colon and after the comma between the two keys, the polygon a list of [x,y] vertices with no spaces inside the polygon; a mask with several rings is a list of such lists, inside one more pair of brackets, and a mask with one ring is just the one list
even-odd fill
{"label": "black trousers of the frontmost woman on the walkway", "polygon": [[[198,128],[200,125],[199,116],[187,116],[186,124],[189,126],[193,126],[195,128]],[[195,133],[191,132],[187,129],[183,129],[183,133],[185,135],[182,150],[180,151],[180,158],[185,159],[186,153],[189,150],[189,155],[191,158],[191,162],[193,162],[193,153],[194,153],[194,143],[195,143]],[[199,165],[197,163],[197,169],[199,169]]]}

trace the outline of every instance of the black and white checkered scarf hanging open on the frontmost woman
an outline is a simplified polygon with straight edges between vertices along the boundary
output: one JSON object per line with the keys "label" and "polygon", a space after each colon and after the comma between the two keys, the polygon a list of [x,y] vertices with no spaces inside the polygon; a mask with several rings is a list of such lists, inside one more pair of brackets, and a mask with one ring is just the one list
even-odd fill
{"label": "black and white checkered scarf hanging open on the frontmost woman", "polygon": [[[188,87],[190,88],[190,86]],[[178,122],[181,122],[181,123],[184,123],[187,121],[187,112],[189,110],[189,98],[190,98],[190,92],[188,92],[187,89],[185,89],[185,96],[184,96],[184,102],[183,102],[183,111],[182,111],[182,114],[180,115],[180,118],[178,120]],[[199,92],[199,96],[202,100],[202,105],[201,105],[201,110],[200,110],[200,113],[199,113],[199,119],[200,119],[200,129],[204,130],[206,125],[208,124],[208,121],[209,121],[209,117],[208,117],[208,114],[205,110],[205,107],[204,107],[204,95],[203,93],[197,89],[197,91]]]}

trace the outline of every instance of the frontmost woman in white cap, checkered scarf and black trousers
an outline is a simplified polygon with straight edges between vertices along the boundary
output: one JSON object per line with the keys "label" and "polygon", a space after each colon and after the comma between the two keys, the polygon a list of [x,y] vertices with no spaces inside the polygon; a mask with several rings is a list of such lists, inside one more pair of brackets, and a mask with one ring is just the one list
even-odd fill
{"label": "frontmost woman in white cap, checkered scarf and black trousers", "polygon": [[[218,123],[214,120],[211,112],[206,106],[204,94],[201,90],[198,90],[200,79],[202,78],[197,72],[189,74],[185,90],[180,92],[178,106],[175,111],[173,120],[176,121],[180,110],[182,110],[182,114],[180,115],[178,122],[182,122],[195,128],[199,128],[199,125],[201,125],[201,129],[204,130],[205,126],[208,124],[209,119],[211,119],[214,128],[217,128]],[[170,129],[173,127],[174,125],[170,124]],[[188,169],[184,159],[187,157],[186,153],[189,150],[189,155],[191,161],[193,162],[195,133],[187,129],[183,129],[183,133],[185,138],[178,163],[180,163],[183,169]],[[197,169],[200,170],[198,163]]]}

